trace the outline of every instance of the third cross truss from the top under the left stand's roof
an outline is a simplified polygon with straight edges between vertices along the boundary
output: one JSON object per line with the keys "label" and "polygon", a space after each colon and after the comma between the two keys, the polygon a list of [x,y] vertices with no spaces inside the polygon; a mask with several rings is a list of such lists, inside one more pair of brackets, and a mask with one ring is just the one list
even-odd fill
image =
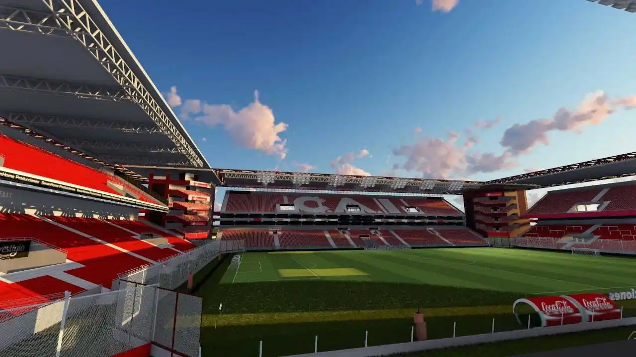
{"label": "third cross truss from the top under the left stand's roof", "polygon": [[9,114],[10,121],[32,126],[64,126],[66,128],[118,130],[128,133],[162,133],[155,125],[130,123],[128,121],[108,121],[88,118],[64,118],[59,116],[46,116],[41,114],[24,114],[12,112]]}

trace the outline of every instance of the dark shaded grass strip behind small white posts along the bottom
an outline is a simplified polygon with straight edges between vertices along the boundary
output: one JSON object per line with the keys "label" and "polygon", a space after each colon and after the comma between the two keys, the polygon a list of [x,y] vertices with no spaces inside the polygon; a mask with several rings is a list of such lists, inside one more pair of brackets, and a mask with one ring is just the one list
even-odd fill
{"label": "dark shaded grass strip behind small white posts along the bottom", "polygon": [[[512,314],[475,316],[434,316],[426,318],[429,339],[453,336],[453,323],[457,322],[456,335],[490,333],[492,318],[495,331],[523,328]],[[207,325],[207,324],[206,324]],[[259,342],[263,341],[263,356],[287,356],[314,352],[315,336],[318,351],[333,351],[364,347],[368,331],[368,346],[410,342],[413,318],[384,320],[323,321],[308,323],[278,323],[275,325],[237,325],[202,330],[204,356],[215,355],[256,356]]]}

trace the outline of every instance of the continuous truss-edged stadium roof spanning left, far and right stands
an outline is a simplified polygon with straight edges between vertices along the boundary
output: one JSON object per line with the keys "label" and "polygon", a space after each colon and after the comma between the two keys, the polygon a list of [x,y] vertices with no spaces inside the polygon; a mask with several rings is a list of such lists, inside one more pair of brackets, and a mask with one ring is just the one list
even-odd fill
{"label": "continuous truss-edged stadium roof spanning left, far and right stands", "polygon": [[[636,0],[590,1],[636,11]],[[192,172],[225,187],[459,194],[636,175],[636,152],[489,182],[213,169],[97,1],[0,0],[0,43],[11,48],[0,56],[0,124],[137,180]]]}

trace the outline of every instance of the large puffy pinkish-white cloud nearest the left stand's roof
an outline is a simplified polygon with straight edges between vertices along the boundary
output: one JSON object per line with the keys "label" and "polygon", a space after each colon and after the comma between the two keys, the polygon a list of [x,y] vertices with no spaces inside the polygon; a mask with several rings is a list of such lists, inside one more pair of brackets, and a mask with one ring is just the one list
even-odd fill
{"label": "large puffy pinkish-white cloud nearest the left stand's roof", "polygon": [[281,159],[287,155],[287,141],[279,136],[287,130],[287,124],[276,123],[272,109],[259,101],[258,91],[254,91],[254,102],[239,111],[227,104],[188,99],[181,107],[179,118],[192,119],[210,127],[222,125],[237,145]]}

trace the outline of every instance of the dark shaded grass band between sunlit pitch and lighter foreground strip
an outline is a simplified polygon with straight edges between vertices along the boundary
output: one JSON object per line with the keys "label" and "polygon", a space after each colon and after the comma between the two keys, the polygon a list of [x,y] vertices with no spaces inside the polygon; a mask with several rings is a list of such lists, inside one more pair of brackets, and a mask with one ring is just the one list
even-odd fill
{"label": "dark shaded grass band between sunlit pitch and lighter foreground strip", "polygon": [[293,313],[299,311],[347,311],[401,309],[406,307],[458,307],[509,305],[525,293],[473,288],[368,281],[272,281],[209,286],[204,314]]}

